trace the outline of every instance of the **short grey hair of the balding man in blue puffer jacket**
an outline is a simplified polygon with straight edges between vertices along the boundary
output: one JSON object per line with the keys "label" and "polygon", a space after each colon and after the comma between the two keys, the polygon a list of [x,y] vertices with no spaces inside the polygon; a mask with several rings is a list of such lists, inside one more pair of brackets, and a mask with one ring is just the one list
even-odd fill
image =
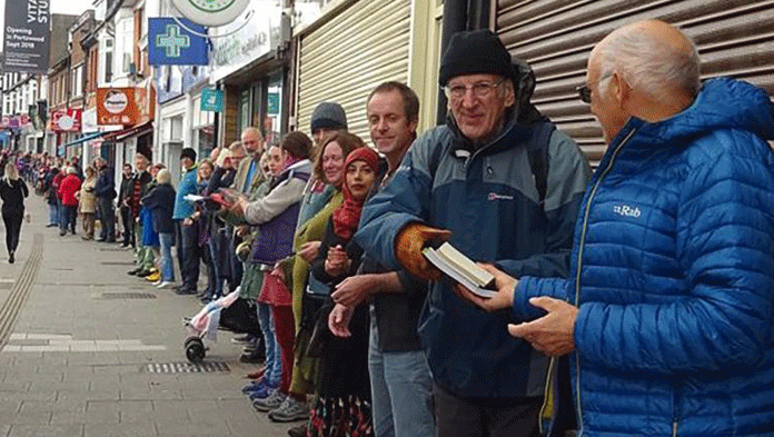
{"label": "short grey hair of the balding man in blue puffer jacket", "polygon": [[[698,51],[685,36],[689,49],[676,49],[638,29],[615,32],[599,47],[599,83],[619,72],[632,88],[651,97],[683,90],[695,97],[701,87]],[[599,86],[599,91],[606,89]]]}

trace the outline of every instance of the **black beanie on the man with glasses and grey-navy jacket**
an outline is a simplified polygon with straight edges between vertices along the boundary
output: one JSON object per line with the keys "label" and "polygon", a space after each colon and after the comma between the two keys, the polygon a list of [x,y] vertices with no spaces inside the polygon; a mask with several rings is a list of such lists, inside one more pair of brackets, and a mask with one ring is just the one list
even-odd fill
{"label": "black beanie on the man with glasses and grey-navy jacket", "polygon": [[499,75],[516,82],[510,53],[490,30],[457,32],[440,60],[438,82],[464,75]]}

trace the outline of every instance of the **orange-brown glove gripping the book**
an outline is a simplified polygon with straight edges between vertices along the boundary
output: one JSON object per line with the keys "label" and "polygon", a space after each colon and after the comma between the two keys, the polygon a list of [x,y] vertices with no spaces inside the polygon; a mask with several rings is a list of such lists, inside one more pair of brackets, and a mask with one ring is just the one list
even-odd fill
{"label": "orange-brown glove gripping the book", "polygon": [[411,275],[421,279],[438,280],[441,277],[440,270],[425,259],[421,249],[434,240],[445,241],[450,236],[452,231],[446,229],[430,228],[419,222],[408,224],[395,238],[395,258]]}

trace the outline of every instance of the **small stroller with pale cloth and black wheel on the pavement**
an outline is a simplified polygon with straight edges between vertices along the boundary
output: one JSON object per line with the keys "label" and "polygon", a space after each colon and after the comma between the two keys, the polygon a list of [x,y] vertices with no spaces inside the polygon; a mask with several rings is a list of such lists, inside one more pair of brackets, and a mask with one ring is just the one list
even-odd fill
{"label": "small stroller with pale cloth and black wheel on the pavement", "polygon": [[239,289],[207,304],[196,316],[183,317],[182,325],[188,332],[183,350],[190,362],[205,358],[209,349],[205,341],[217,341],[218,329],[261,338],[256,302],[240,299]]}

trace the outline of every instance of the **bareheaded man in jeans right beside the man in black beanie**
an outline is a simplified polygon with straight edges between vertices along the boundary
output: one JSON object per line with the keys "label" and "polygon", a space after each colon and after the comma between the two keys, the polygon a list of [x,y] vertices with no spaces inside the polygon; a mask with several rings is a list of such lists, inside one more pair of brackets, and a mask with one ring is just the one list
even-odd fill
{"label": "bareheaded man in jeans right beside the man in black beanie", "polygon": [[[386,157],[377,191],[393,179],[417,137],[419,98],[406,85],[389,81],[371,91],[366,107],[371,141]],[[350,336],[355,308],[369,305],[368,374],[376,437],[434,436],[433,379],[417,335],[426,282],[365,257],[358,275],[338,284],[331,297],[337,305],[328,326],[337,336]]]}

